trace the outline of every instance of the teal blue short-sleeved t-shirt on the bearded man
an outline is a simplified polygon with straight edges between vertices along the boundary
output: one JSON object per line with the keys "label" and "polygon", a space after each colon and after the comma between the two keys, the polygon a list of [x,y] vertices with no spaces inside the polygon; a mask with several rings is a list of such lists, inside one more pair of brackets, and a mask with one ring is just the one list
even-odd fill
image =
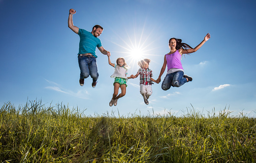
{"label": "teal blue short-sleeved t-shirt on the bearded man", "polygon": [[96,38],[91,32],[80,28],[78,31],[78,35],[80,36],[78,54],[91,53],[97,58],[95,51],[96,47],[102,46],[100,40]]}

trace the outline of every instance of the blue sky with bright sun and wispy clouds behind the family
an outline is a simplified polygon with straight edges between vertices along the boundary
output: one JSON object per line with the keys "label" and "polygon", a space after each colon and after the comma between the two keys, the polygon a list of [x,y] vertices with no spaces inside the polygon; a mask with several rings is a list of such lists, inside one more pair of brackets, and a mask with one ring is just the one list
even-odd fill
{"label": "blue sky with bright sun and wispy clouds behind the family", "polygon": [[[77,53],[79,36],[67,26],[69,9],[73,23],[92,31],[104,30],[99,39],[111,52],[111,61],[124,57],[128,75],[138,70],[129,55],[141,48],[152,62],[157,79],[171,37],[197,46],[209,32],[211,39],[195,53],[182,58],[185,74],[193,81],[179,88],[161,90],[154,84],[149,105],[139,93],[139,78],[128,80],[127,94],[109,107],[114,79],[107,56],[96,49],[99,79],[79,85]],[[255,0],[0,0],[0,105],[16,107],[27,99],[46,106],[63,103],[86,115],[148,115],[188,109],[212,113],[229,108],[233,115],[256,111]],[[161,77],[163,80],[166,70]]]}

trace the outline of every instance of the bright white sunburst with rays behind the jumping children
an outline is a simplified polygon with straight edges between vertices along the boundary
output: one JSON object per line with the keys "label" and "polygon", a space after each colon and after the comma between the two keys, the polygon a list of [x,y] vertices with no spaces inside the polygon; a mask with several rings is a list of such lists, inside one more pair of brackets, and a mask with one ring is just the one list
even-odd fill
{"label": "bright white sunburst with rays behind the jumping children", "polygon": [[[157,26],[151,27],[150,31],[148,31],[149,28],[147,28],[148,25],[146,22],[147,20],[145,19],[143,24],[139,25],[136,24],[135,20],[133,28],[126,28],[127,26],[125,26],[123,27],[124,32],[121,34],[118,34],[116,31],[112,30],[119,38],[119,41],[109,41],[118,47],[121,47],[123,51],[120,51],[120,49],[117,51],[111,51],[111,55],[118,54],[118,57],[124,57],[131,71],[139,68],[137,63],[142,59],[149,58],[151,59],[151,62],[153,62],[154,57],[162,57],[162,55],[156,54],[156,49],[160,48],[154,46],[158,45],[156,44],[157,39],[152,39],[152,36],[154,35],[153,32],[156,30]],[[137,28],[137,25],[139,28]],[[130,30],[132,30],[132,32],[130,32]],[[125,34],[126,36],[122,34]]]}

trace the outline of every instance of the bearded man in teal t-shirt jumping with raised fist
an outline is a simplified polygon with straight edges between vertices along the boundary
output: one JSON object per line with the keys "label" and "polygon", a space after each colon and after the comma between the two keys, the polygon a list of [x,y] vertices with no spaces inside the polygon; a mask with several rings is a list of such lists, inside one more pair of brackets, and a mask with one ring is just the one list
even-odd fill
{"label": "bearded man in teal t-shirt jumping with raised fist", "polygon": [[73,25],[74,9],[69,10],[68,27],[80,36],[78,64],[80,68],[80,86],[84,85],[84,79],[89,75],[93,78],[92,86],[95,87],[98,79],[98,70],[96,64],[96,47],[102,54],[110,56],[110,52],[101,46],[100,40],[97,38],[103,31],[100,25],[95,25],[92,32],[78,28]]}

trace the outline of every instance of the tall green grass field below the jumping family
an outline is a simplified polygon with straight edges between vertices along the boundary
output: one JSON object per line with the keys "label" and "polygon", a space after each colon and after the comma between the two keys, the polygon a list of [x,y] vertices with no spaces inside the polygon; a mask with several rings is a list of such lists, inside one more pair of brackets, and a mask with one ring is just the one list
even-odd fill
{"label": "tall green grass field below the jumping family", "polygon": [[256,118],[85,116],[40,101],[0,109],[1,163],[256,163]]}

